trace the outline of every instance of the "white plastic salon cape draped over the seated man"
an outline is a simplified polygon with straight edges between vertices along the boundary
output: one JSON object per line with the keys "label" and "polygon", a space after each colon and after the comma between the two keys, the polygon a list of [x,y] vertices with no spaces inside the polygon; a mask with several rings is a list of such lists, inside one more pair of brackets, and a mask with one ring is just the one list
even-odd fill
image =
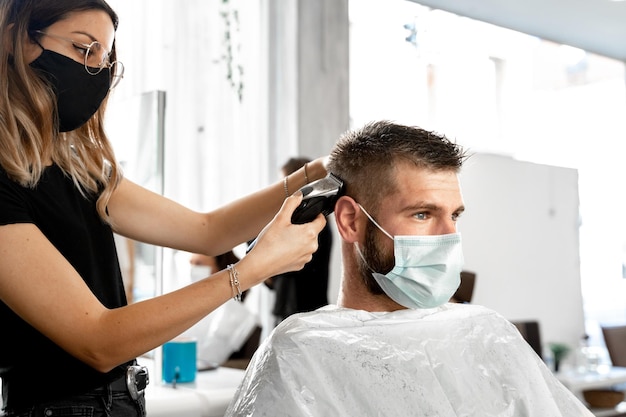
{"label": "white plastic salon cape draped over the seated man", "polygon": [[255,353],[226,416],[593,414],[501,315],[445,304],[287,318]]}

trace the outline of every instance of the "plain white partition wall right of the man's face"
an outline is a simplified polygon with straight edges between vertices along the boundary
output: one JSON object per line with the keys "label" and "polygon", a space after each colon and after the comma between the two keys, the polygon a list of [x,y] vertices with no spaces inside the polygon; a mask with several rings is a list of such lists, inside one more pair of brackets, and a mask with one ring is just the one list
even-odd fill
{"label": "plain white partition wall right of the man's face", "polygon": [[544,345],[576,346],[584,333],[577,171],[476,154],[460,181],[465,269],[477,274],[472,302],[538,320]]}

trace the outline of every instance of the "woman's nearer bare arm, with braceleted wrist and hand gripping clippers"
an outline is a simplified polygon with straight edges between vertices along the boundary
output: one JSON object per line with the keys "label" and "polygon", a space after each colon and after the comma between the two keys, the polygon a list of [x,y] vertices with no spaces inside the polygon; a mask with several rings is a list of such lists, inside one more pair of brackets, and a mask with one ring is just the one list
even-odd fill
{"label": "woman's nearer bare arm, with braceleted wrist and hand gripping clippers", "polygon": [[[236,265],[242,290],[310,260],[325,219],[320,215],[305,225],[291,224],[300,200],[300,195],[285,200],[255,249]],[[206,242],[220,240],[215,230]],[[164,234],[154,236],[167,240]],[[190,247],[202,242],[198,239]],[[36,226],[0,226],[0,299],[61,348],[102,372],[172,339],[232,295],[228,272],[222,271],[172,293],[107,309]]]}

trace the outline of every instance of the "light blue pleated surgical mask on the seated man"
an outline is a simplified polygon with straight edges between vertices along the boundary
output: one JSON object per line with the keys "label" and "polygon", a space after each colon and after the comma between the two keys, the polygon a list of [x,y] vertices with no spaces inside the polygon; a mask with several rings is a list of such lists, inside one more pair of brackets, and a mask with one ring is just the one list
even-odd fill
{"label": "light blue pleated surgical mask on the seated man", "polygon": [[433,308],[448,302],[461,283],[461,234],[391,236],[361,210],[393,239],[395,266],[384,275],[372,272],[385,294],[407,308]]}

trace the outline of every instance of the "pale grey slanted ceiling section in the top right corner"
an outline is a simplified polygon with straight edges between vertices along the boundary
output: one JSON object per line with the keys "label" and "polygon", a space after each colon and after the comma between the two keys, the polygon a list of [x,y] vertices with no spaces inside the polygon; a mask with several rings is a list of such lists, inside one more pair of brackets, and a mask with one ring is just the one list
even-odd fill
{"label": "pale grey slanted ceiling section in the top right corner", "polygon": [[412,1],[626,61],[626,1]]}

